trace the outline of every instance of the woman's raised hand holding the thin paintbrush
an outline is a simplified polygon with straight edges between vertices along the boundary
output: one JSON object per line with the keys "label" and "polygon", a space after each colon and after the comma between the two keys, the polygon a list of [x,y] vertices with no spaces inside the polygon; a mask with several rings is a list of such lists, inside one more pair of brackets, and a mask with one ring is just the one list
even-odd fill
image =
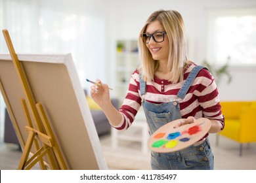
{"label": "woman's raised hand holding the thin paintbrush", "polygon": [[91,97],[98,104],[100,108],[104,110],[104,108],[108,107],[111,104],[110,101],[110,92],[107,84],[102,84],[100,80],[96,80],[97,83],[101,84],[101,86],[96,86],[95,84],[91,86]]}

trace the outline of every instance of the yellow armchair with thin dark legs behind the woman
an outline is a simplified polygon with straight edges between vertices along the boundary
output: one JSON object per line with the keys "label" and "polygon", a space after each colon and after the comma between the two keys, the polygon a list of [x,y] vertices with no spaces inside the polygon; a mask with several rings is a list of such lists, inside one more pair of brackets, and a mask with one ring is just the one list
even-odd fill
{"label": "yellow armchair with thin dark legs behind the woman", "polygon": [[223,101],[221,107],[225,123],[217,144],[219,135],[228,137],[240,143],[242,156],[242,144],[256,142],[256,101]]}

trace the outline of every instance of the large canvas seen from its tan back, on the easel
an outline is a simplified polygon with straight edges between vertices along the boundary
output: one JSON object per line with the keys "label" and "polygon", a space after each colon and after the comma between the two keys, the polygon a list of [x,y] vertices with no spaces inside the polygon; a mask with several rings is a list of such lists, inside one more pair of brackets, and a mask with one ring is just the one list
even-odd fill
{"label": "large canvas seen from its tan back, on the easel", "polygon": [[[45,108],[68,169],[108,169],[71,54],[17,54],[17,57],[35,103]],[[0,54],[0,84],[24,148],[28,122],[20,100],[26,99],[26,95],[9,54]]]}

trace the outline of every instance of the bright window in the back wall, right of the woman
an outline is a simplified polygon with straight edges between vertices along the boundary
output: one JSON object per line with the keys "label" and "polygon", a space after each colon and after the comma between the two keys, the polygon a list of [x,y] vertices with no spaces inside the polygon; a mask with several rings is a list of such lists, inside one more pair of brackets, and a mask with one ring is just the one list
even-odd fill
{"label": "bright window in the back wall, right of the woman", "polygon": [[256,65],[256,8],[209,12],[208,59],[223,65]]}

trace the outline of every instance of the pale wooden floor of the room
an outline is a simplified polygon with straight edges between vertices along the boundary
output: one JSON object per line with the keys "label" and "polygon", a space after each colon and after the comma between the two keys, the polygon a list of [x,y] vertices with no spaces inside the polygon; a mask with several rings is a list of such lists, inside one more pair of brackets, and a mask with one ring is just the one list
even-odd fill
{"label": "pale wooden floor of the room", "polygon": [[[217,170],[256,170],[256,143],[245,144],[239,156],[239,144],[220,137],[219,146],[215,145],[215,135],[210,135],[211,147],[215,156]],[[110,135],[100,137],[102,150],[109,169],[150,169],[150,152],[143,154],[139,142],[120,142],[112,149]],[[15,170],[22,151],[14,144],[0,143],[0,169]],[[39,169],[38,166],[33,169]]]}

